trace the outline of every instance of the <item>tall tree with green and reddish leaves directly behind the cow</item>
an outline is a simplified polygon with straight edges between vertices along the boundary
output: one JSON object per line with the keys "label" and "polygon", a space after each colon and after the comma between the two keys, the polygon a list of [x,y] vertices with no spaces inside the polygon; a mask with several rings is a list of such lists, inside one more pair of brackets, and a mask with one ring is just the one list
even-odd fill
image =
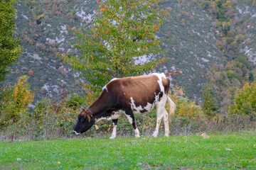
{"label": "tall tree with green and reddish leaves directly behind the cow", "polygon": [[[94,91],[114,77],[136,76],[155,69],[166,61],[154,58],[163,52],[163,40],[154,33],[169,15],[168,11],[159,10],[160,1],[163,0],[97,1],[97,14],[90,30],[86,34],[85,28],[74,32],[74,47],[81,55],[64,56],[63,60],[80,71]],[[151,56],[150,61],[137,63],[145,56]]]}

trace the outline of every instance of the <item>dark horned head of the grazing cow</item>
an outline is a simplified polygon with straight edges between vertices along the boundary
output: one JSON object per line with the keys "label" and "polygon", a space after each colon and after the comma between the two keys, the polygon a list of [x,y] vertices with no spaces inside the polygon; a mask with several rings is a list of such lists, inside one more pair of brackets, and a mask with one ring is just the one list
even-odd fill
{"label": "dark horned head of the grazing cow", "polygon": [[78,115],[78,123],[75,125],[73,133],[75,135],[80,135],[80,133],[86,132],[90,129],[94,123],[95,119],[92,117],[91,111],[89,109],[85,110],[85,108],[82,108]]}

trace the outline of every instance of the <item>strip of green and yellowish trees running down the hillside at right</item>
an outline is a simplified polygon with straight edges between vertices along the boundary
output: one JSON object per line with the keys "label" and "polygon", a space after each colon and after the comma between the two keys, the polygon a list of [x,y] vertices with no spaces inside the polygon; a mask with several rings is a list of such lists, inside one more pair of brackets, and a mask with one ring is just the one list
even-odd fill
{"label": "strip of green and yellowish trees running down the hillside at right", "polygon": [[[208,71],[208,79],[212,88],[219,96],[220,113],[227,113],[228,107],[233,101],[237,88],[241,88],[246,82],[254,80],[255,66],[250,58],[241,52],[242,45],[246,43],[245,27],[250,18],[247,14],[238,18],[235,11],[238,2],[230,0],[204,1],[201,7],[206,8],[210,13],[207,4],[217,4],[218,13],[213,13],[217,21],[214,22],[215,29],[220,31],[220,38],[215,45],[225,55],[225,64],[219,64]],[[243,27],[241,27],[243,25]],[[218,36],[217,36],[218,37]]]}

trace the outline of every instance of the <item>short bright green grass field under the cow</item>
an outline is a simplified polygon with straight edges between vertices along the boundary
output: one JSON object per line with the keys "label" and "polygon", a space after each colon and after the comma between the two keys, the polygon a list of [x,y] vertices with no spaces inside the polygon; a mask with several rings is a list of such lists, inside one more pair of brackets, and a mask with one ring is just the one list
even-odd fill
{"label": "short bright green grass field under the cow", "polygon": [[256,169],[256,135],[0,142],[0,169]]}

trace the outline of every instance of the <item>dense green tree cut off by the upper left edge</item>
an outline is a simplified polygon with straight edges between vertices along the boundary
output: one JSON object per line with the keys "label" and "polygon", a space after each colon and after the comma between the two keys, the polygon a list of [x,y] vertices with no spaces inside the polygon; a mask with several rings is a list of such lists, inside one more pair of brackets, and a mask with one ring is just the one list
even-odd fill
{"label": "dense green tree cut off by the upper left edge", "polygon": [[15,0],[0,1],[0,82],[9,73],[11,64],[21,55],[20,39],[14,36]]}

